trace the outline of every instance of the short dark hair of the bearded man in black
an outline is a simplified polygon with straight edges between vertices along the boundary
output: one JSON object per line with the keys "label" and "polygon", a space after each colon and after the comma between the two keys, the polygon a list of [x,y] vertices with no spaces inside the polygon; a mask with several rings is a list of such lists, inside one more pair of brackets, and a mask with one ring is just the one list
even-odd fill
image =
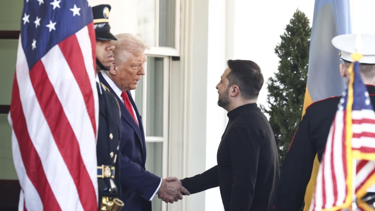
{"label": "short dark hair of the bearded man in black", "polygon": [[262,71],[257,63],[250,60],[229,59],[227,64],[231,70],[226,75],[228,87],[236,84],[244,99],[257,98],[264,82]]}

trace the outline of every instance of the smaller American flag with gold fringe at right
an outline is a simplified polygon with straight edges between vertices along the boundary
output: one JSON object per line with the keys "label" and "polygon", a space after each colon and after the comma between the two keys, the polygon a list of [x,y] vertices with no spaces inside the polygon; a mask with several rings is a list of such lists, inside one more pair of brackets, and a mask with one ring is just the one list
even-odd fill
{"label": "smaller American flag with gold fringe at right", "polygon": [[[353,57],[359,60],[360,55]],[[359,62],[349,68],[354,74],[351,74],[332,122],[311,211],[349,208],[354,191],[358,209],[373,210],[361,198],[375,182],[375,113],[359,69]]]}

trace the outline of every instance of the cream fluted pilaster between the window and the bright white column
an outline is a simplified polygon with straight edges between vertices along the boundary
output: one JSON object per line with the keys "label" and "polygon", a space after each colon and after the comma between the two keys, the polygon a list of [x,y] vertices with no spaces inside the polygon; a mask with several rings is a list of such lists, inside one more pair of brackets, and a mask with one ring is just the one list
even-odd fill
{"label": "cream fluted pilaster between the window and the bright white column", "polygon": [[[181,0],[183,71],[183,176],[205,171],[207,117],[208,0]],[[183,199],[186,211],[204,210],[205,193]],[[170,205],[171,210],[175,209]]]}

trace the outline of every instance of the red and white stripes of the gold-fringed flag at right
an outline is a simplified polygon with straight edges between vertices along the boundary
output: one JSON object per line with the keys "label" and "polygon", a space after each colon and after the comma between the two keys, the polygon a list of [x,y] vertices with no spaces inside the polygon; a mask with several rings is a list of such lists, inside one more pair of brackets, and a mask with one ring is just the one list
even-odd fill
{"label": "red and white stripes of the gold-fringed flag at right", "polygon": [[[375,113],[373,110],[354,110],[352,115],[351,150],[361,153],[375,151]],[[346,113],[343,110],[336,112],[326,149],[319,167],[317,185],[310,206],[310,211],[320,211],[342,206],[348,194],[347,175],[351,173],[347,168],[346,152]],[[366,181],[375,173],[375,161],[357,160],[356,162],[355,191],[359,191]],[[352,174],[352,173],[351,173]],[[350,182],[351,183],[351,182]],[[352,190],[353,192],[353,190]]]}

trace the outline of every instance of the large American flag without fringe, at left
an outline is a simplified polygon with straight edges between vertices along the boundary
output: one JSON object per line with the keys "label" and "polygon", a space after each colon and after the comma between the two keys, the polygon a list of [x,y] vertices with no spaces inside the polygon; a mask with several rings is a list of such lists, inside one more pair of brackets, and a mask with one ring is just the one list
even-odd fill
{"label": "large American flag without fringe, at left", "polygon": [[24,0],[8,120],[18,210],[98,210],[95,31],[86,0]]}

